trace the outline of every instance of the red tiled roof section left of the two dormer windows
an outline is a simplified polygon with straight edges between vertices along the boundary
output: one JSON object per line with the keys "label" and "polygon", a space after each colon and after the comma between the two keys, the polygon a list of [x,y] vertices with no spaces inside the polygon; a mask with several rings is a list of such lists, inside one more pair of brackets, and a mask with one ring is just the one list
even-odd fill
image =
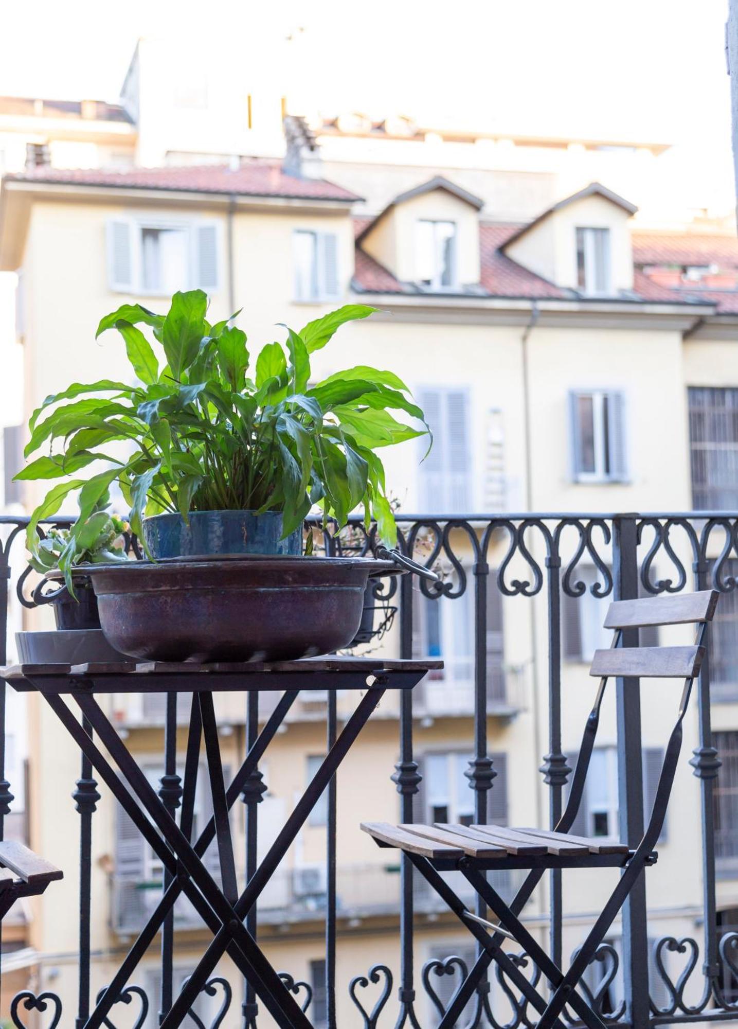
{"label": "red tiled roof section left of the two dormer windows", "polygon": [[225,165],[171,168],[100,169],[33,168],[6,179],[65,185],[108,186],[123,189],[167,189],[187,192],[235,193],[239,197],[284,197],[298,200],[360,200],[356,193],[325,179],[287,175],[278,161],[246,162],[237,169]]}

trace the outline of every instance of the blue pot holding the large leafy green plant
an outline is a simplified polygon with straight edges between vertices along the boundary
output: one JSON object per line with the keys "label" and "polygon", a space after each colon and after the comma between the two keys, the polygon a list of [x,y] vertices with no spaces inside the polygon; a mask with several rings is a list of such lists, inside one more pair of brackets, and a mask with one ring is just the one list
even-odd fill
{"label": "blue pot holding the large leafy green plant", "polygon": [[282,538],[282,511],[190,511],[154,514],[143,521],[144,539],[154,559],[201,554],[302,554],[302,527]]}

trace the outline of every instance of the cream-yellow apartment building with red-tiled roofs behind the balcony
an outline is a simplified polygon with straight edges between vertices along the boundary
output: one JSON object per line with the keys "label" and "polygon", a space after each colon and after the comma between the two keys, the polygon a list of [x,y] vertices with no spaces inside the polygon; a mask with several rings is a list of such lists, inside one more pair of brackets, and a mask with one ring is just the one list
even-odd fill
{"label": "cream-yellow apartment building with red-tiled roofs behind the balcony", "polygon": [[[135,64],[126,91],[138,100],[133,108],[128,101],[126,110],[138,112],[132,123],[142,127],[144,81],[143,65]],[[126,300],[157,310],[175,289],[201,287],[212,297],[214,319],[244,309],[239,323],[252,352],[273,339],[278,322],[299,329],[332,306],[369,303],[377,314],[345,326],[315,355],[313,370],[322,377],[370,363],[391,367],[410,385],[435,445],[422,462],[413,445],[386,455],[401,514],[468,514],[483,522],[485,516],[516,511],[735,511],[738,243],[732,228],[704,216],[688,221],[682,212],[669,223],[662,211],[636,211],[632,201],[639,198],[623,193],[621,180],[637,181],[647,165],[658,178],[662,145],[575,141],[573,148],[560,141],[556,149],[550,141],[527,140],[513,148],[514,158],[509,146],[492,142],[491,149],[474,139],[439,142],[407,119],[377,127],[359,115],[310,128],[288,112],[282,155],[264,155],[258,147],[256,155],[242,154],[223,146],[227,159],[218,163],[217,149],[205,159],[202,151],[184,154],[183,144],[173,143],[157,154],[156,168],[70,169],[40,162],[6,174],[0,268],[19,275],[23,284],[25,416],[60,380],[126,375],[118,342],[94,341],[99,319]],[[445,143],[450,149],[443,149]],[[615,156],[625,164],[613,181],[600,172],[612,166],[617,145],[623,152]],[[555,150],[553,157],[547,149]],[[577,178],[583,170],[587,177]],[[564,182],[566,191],[559,188]],[[31,487],[21,499],[29,507],[35,496]],[[472,549],[460,538],[456,544],[469,572]],[[575,548],[576,541],[566,546]],[[492,567],[500,567],[505,553],[505,541],[493,539]],[[458,577],[443,556],[440,567],[449,580]],[[579,573],[591,584],[601,569],[585,555]],[[659,566],[656,574],[669,570]],[[738,622],[735,602],[723,600],[713,723],[724,760],[716,802],[719,917],[731,926],[738,920],[738,823],[732,802],[738,782]],[[446,663],[443,673],[417,688],[413,702],[422,775],[416,817],[423,819],[473,815],[465,777],[473,738],[472,604],[470,591],[440,601],[418,594],[413,604],[415,652],[440,654]],[[591,703],[587,667],[603,639],[605,606],[592,593],[565,598],[562,742],[571,756]],[[381,645],[397,652],[397,627]],[[487,731],[497,776],[489,814],[501,823],[544,825],[548,817],[538,771],[546,751],[548,645],[539,599],[502,596],[491,579]],[[643,697],[647,805],[670,728],[668,702],[658,686]],[[162,703],[161,697],[109,700],[121,735],[153,782],[162,774]],[[342,698],[340,712],[349,704]],[[233,695],[218,708],[231,769],[244,754],[245,713],[244,698]],[[61,867],[74,870],[78,842],[69,828],[76,817],[70,793],[78,754],[35,698],[29,701],[28,724],[31,844]],[[617,832],[615,731],[615,710],[607,707],[594,785],[580,822],[593,835]],[[696,715],[687,736],[690,751],[696,746]],[[184,746],[183,736],[182,755]],[[304,696],[261,769],[267,792],[259,806],[260,852],[309,781],[325,746],[325,698]],[[397,760],[398,709],[388,700],[338,777],[339,1025],[355,1024],[347,997],[352,977],[379,960],[395,969],[399,965],[398,866],[388,860],[391,852],[377,850],[358,827],[360,819],[398,820],[399,796],[390,779]],[[677,789],[679,803],[669,813],[659,868],[649,883],[655,937],[692,934],[701,912],[699,792],[686,758]],[[93,994],[108,982],[155,904],[161,880],[160,865],[100,791],[94,817]],[[207,816],[206,796],[197,817]],[[325,805],[319,805],[259,908],[259,934],[270,958],[312,985],[316,1025],[323,1017],[325,983],[326,820]],[[243,839],[244,823],[238,806],[236,839]],[[499,885],[512,890],[513,880]],[[565,952],[581,942],[603,888],[586,876],[576,889],[568,886]],[[525,910],[542,934],[547,889]],[[17,972],[37,989],[52,985],[70,998],[70,1010],[76,989],[75,904],[72,874],[29,906],[28,953]],[[207,933],[186,904],[178,908],[176,925],[181,981]],[[418,963],[469,954],[469,942],[422,891],[416,925]],[[614,927],[616,950],[619,931]],[[229,970],[227,962],[223,968]],[[139,977],[152,995],[157,974],[152,954]],[[618,989],[616,983],[614,1003]],[[207,1002],[204,998],[204,1006]],[[421,1015],[433,1024],[430,1001]],[[235,1013],[229,1018],[224,1025],[238,1024]]]}

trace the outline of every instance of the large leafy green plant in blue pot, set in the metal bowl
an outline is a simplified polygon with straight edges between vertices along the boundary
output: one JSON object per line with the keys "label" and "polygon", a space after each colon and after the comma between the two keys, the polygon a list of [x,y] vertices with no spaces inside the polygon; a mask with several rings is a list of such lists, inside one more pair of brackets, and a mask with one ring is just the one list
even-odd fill
{"label": "large leafy green plant in blue pot, set in the metal bowl", "polygon": [[[374,310],[347,305],[299,332],[284,326],[285,345],[266,344],[255,360],[235,315],[208,321],[201,290],[176,293],[165,315],[140,305],[107,315],[98,335],[118,331],[139,385],[74,383],[34,412],[26,457],[40,456],[15,478],[63,482],[34,511],[33,531],[77,489],[85,524],[117,482],[154,559],[300,555],[313,505],[338,526],[362,506],[367,526],[374,519],[394,545],[377,451],[427,433],[421,410],[402,380],[370,365],[310,383],[310,355]],[[111,442],[133,453],[107,455]],[[101,461],[104,470],[79,476]]]}

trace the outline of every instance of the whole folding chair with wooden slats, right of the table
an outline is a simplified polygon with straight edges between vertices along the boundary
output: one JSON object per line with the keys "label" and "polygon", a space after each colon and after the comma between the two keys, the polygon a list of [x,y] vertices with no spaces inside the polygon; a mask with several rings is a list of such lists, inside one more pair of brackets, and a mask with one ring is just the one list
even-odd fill
{"label": "whole folding chair with wooden slats, right of the table", "polygon": [[[566,810],[556,829],[506,828],[497,825],[433,825],[384,822],[362,824],[365,832],[380,847],[402,850],[415,868],[436,890],[459,921],[467,926],[479,944],[479,957],[452,997],[439,1029],[451,1029],[471,999],[487,967],[495,961],[508,979],[522,992],[541,1015],[538,1029],[562,1029],[561,1012],[568,1004],[590,1029],[603,1029],[604,1023],[592,1010],[576,988],[604,938],[615,917],[647,865],[656,861],[654,846],[661,835],[669,794],[674,781],[681,749],[681,723],[705,652],[707,624],[712,619],[717,593],[704,591],[649,597],[641,600],[621,600],[610,605],[604,620],[614,630],[608,650],[597,650],[590,675],[599,676],[599,688],[587,719],[582,747],[577,761]],[[694,646],[623,647],[625,629],[652,626],[698,625]],[[592,756],[599,711],[610,676],[625,679],[684,678],[685,685],[676,724],[666,746],[664,764],[648,827],[638,846],[631,850],[626,844],[606,839],[573,836],[574,824],[584,792],[585,779]],[[627,683],[626,683],[627,685]],[[547,868],[618,867],[623,874],[602,909],[587,938],[577,952],[565,973],[556,966],[540,944],[530,935],[519,914]],[[484,875],[493,868],[528,868],[529,874],[515,899],[507,904]],[[467,910],[441,872],[458,871],[471,883],[484,904],[499,920],[497,924]],[[504,938],[516,941],[528,953],[549,981],[552,993],[548,1001],[534,989],[525,975],[502,950]]]}

